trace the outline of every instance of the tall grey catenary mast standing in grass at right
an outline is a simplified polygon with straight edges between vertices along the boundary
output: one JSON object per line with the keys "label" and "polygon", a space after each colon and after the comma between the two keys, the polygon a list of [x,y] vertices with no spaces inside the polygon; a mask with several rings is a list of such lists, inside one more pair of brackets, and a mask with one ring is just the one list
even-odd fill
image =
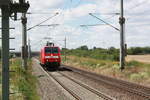
{"label": "tall grey catenary mast standing in grass at right", "polygon": [[121,15],[119,18],[120,23],[120,68],[121,70],[124,69],[125,66],[125,43],[124,43],[124,24],[125,24],[125,18],[124,18],[124,7],[123,7],[123,0],[121,0]]}

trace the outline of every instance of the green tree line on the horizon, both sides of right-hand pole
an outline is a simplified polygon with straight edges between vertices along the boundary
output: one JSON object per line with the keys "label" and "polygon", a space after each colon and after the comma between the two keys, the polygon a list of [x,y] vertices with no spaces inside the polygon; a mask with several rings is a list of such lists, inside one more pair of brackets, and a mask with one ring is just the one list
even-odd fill
{"label": "green tree line on the horizon, both sides of right-hand pole", "polygon": [[[62,48],[62,54],[66,52],[67,55],[75,55],[79,57],[90,57],[94,59],[119,61],[119,49],[115,47],[89,49],[88,46],[83,45],[76,49]],[[128,55],[150,54],[150,47],[131,47],[127,49]]]}

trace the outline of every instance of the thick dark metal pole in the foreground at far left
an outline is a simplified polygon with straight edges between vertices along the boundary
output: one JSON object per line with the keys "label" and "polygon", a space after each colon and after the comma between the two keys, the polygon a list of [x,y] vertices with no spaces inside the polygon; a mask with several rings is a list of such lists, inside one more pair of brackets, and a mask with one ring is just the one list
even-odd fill
{"label": "thick dark metal pole in the foreground at far left", "polygon": [[2,100],[9,100],[9,9],[2,6]]}

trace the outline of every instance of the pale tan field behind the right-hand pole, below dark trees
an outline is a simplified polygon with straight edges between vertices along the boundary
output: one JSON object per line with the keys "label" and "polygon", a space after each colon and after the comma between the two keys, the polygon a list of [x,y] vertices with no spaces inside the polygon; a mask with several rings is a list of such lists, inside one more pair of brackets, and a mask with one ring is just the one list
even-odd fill
{"label": "pale tan field behind the right-hand pole, below dark trees", "polygon": [[150,64],[150,55],[128,55],[126,61],[139,61]]}

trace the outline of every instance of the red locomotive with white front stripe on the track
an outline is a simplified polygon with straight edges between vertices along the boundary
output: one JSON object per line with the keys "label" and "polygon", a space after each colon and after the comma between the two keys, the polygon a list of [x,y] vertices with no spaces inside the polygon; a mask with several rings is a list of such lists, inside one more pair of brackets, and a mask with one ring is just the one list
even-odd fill
{"label": "red locomotive with white front stripe on the track", "polygon": [[54,43],[47,43],[41,49],[40,63],[42,66],[58,68],[61,64],[60,48],[54,46]]}

